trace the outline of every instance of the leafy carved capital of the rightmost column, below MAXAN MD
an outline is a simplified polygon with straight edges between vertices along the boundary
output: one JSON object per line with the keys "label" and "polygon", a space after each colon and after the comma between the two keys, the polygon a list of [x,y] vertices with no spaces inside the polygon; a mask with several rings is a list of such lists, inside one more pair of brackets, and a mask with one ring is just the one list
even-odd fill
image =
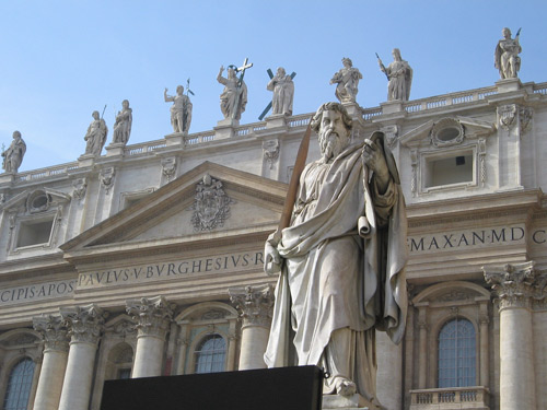
{"label": "leafy carved capital of the rightmost column, below MAXAN MD", "polygon": [[532,300],[547,295],[547,276],[535,269],[534,261],[482,267],[485,280],[499,297],[500,311],[508,307],[529,308]]}

